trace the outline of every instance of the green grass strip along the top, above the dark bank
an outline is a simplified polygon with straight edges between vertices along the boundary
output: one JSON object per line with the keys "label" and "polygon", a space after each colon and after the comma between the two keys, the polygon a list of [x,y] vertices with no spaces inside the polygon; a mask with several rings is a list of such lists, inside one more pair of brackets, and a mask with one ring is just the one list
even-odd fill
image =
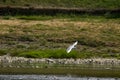
{"label": "green grass strip along the top, above the dark bank", "polygon": [[107,8],[116,9],[120,7],[119,0],[1,0],[1,6],[27,6],[27,7],[63,7],[63,8]]}

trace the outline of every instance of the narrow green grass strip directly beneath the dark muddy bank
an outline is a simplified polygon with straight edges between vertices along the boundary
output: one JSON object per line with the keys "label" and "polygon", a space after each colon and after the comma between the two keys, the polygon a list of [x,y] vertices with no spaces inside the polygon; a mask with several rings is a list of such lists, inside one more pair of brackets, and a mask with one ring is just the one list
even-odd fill
{"label": "narrow green grass strip directly beneath the dark muddy bank", "polygon": [[46,21],[46,20],[52,20],[52,19],[68,19],[70,21],[91,21],[91,20],[97,20],[97,21],[106,21],[106,20],[119,20],[120,15],[119,14],[101,14],[101,15],[92,15],[92,14],[62,14],[58,13],[56,15],[6,15],[2,16],[2,19],[9,20],[9,19],[22,19],[22,20],[36,20],[36,21]]}

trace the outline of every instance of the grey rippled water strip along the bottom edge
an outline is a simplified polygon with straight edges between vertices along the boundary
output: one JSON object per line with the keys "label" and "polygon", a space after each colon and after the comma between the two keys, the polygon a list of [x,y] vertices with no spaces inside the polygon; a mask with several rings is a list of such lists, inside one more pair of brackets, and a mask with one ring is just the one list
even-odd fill
{"label": "grey rippled water strip along the bottom edge", "polygon": [[77,77],[70,75],[0,75],[0,80],[120,80],[120,78]]}

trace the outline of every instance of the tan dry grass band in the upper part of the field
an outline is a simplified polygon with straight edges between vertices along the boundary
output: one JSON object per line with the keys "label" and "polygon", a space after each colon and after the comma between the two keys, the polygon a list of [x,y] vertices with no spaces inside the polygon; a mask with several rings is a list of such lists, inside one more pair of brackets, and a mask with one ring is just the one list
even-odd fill
{"label": "tan dry grass band in the upper part of the field", "polygon": [[[69,20],[47,20],[47,21],[26,21],[26,20],[0,20],[1,31],[0,34],[11,33],[30,34],[45,33],[55,34],[56,37],[60,35],[63,37],[80,37],[86,35],[91,38],[100,37],[103,31],[112,30],[115,34],[120,32],[120,24],[114,21],[108,22],[86,22],[86,21],[69,21]],[[27,31],[25,31],[27,30]],[[53,35],[53,36],[55,36]]]}

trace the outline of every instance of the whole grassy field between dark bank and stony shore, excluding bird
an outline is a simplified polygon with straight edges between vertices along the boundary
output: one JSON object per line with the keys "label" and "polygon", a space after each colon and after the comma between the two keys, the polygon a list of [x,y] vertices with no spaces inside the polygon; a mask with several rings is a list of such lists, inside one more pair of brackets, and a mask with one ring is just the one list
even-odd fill
{"label": "whole grassy field between dark bank and stony shore, excluding bird", "polygon": [[[34,58],[120,58],[119,20],[61,14],[1,16],[0,54]],[[66,54],[65,49],[76,40],[79,43],[75,52]]]}

